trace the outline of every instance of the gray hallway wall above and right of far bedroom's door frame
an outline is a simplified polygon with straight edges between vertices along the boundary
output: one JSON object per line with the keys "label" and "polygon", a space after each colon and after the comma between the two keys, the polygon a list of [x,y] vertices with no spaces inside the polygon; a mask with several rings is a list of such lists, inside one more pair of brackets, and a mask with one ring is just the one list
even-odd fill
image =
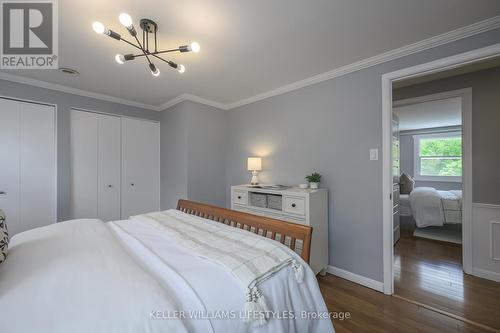
{"label": "gray hallway wall above and right of far bedroom's door frame", "polygon": [[472,88],[472,200],[500,204],[500,67],[399,88],[393,98],[467,87]]}

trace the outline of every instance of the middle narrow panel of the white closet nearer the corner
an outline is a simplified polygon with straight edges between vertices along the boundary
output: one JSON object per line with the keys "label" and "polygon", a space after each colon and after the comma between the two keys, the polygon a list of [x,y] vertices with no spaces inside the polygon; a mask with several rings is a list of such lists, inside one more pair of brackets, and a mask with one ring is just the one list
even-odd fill
{"label": "middle narrow panel of the white closet nearer the corner", "polygon": [[120,219],[121,121],[119,117],[97,115],[98,217],[103,221]]}

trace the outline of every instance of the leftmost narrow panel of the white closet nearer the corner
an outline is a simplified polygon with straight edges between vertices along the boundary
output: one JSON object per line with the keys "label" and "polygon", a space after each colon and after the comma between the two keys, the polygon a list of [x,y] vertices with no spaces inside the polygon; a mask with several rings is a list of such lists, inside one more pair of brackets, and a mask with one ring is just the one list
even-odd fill
{"label": "leftmost narrow panel of the white closet nearer the corner", "polygon": [[71,110],[71,217],[97,218],[98,119]]}

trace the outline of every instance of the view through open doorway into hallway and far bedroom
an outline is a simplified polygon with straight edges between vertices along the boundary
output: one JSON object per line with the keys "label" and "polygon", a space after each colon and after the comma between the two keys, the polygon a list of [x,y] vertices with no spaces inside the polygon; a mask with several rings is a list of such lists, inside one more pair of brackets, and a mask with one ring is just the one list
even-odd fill
{"label": "view through open doorway into hallway and far bedroom", "polygon": [[486,161],[498,138],[486,129],[498,112],[499,73],[496,57],[401,80],[392,91],[394,294],[492,327],[497,297],[470,275],[478,257],[468,258],[477,242],[495,257],[497,222],[477,223],[484,205],[476,200],[497,193]]}

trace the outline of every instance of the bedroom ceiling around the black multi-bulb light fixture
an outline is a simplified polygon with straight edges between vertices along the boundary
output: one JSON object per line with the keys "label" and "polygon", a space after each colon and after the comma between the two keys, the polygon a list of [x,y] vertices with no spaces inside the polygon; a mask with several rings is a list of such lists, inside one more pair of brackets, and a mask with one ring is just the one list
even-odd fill
{"label": "bedroom ceiling around the black multi-bulb light fixture", "polygon": [[[201,52],[172,54],[184,74],[118,65],[133,49],[91,24],[126,36],[121,12],[158,22],[162,48],[196,40]],[[59,65],[81,75],[5,72],[154,106],[182,94],[230,104],[499,14],[498,0],[59,0]]]}

